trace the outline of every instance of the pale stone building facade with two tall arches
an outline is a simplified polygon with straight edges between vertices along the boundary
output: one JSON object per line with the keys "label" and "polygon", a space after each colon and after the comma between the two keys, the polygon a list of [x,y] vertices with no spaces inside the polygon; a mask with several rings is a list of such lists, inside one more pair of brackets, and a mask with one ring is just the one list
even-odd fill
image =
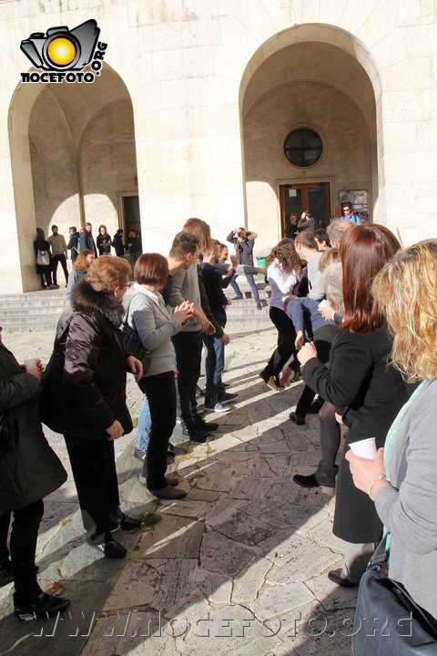
{"label": "pale stone building facade with two tall arches", "polygon": [[[145,251],[167,252],[198,216],[220,240],[249,226],[261,255],[290,211],[328,222],[347,200],[404,244],[435,236],[432,0],[0,8],[0,292],[38,289],[35,230],[52,223],[136,227]],[[107,44],[92,83],[25,81],[44,71],[23,40],[44,48],[47,29],[90,19]]]}

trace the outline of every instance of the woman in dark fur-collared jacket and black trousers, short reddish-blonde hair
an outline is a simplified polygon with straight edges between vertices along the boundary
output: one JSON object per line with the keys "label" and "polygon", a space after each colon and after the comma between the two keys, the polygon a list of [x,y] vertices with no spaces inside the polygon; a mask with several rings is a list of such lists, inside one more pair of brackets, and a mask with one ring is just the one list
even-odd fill
{"label": "woman in dark fur-collared jacket and black trousers, short reddish-blonde hair", "polygon": [[62,313],[41,399],[44,423],[63,433],[75,477],[86,541],[107,558],[124,558],[117,528],[139,528],[120,510],[114,440],[132,430],[126,405],[127,368],[142,364],[126,353],[119,326],[129,263],[95,260],[76,283],[73,307]]}

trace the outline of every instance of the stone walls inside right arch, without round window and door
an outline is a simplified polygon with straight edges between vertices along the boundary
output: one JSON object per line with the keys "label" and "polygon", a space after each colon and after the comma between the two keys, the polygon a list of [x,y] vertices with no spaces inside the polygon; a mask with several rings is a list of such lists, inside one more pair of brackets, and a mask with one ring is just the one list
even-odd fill
{"label": "stone walls inside right arch, without round window and door", "polygon": [[[280,103],[287,104],[288,111],[276,109],[275,114]],[[353,120],[344,129],[344,147],[339,149],[343,108]],[[383,186],[377,152],[377,144],[381,149],[381,80],[371,53],[357,38],[340,28],[318,24],[290,27],[272,36],[244,70],[239,109],[246,211],[249,227],[259,232],[260,241],[273,245],[281,236],[279,182],[289,179],[330,180],[332,214],[345,184],[353,185],[346,189],[361,189],[365,184],[370,216],[379,218],[379,189]],[[332,157],[296,171],[279,162],[284,136],[280,131],[299,125],[318,127],[326,134]],[[363,143],[363,149],[355,159],[366,159],[365,166],[355,166],[349,178],[339,175],[341,156],[352,157],[350,161],[356,163],[352,146],[356,148],[357,143]],[[262,160],[266,175],[257,167],[257,159]]]}

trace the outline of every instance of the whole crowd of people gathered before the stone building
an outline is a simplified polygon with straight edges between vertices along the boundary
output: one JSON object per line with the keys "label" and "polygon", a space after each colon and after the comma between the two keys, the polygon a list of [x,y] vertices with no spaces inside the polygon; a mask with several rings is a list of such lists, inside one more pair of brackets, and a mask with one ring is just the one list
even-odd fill
{"label": "whole crowd of people gathered before the stone building", "polygon": [[[360,224],[350,207],[344,212],[327,231],[310,212],[299,222],[292,216],[294,236],[269,253],[269,317],[278,345],[259,375],[275,393],[301,376],[305,385],[290,421],[304,425],[308,413],[319,415],[320,464],[310,475],[290,477],[301,487],[335,489],[333,532],[343,540],[344,564],[328,573],[330,580],[357,586],[385,525],[391,532],[391,576],[435,618],[437,241],[402,250],[387,228]],[[185,497],[178,477],[167,476],[177,417],[193,443],[207,443],[219,428],[198,411],[202,347],[205,409],[229,412],[238,395],[229,394],[222,381],[226,309],[241,298],[238,275],[247,276],[260,303],[253,278],[256,234],[244,228],[228,235],[235,247],[230,264],[227,245],[212,239],[208,223],[199,219],[186,221],[167,258],[141,254],[136,235],[124,244],[117,233],[111,241],[103,225],[97,246],[90,224],[80,233],[71,228],[70,235],[65,249],[57,229],[55,240],[47,242],[39,229],[36,240],[37,253],[48,251],[61,264],[61,246],[64,254],[76,249],[74,272],[66,278],[70,305],[59,319],[46,371],[40,362],[26,371],[0,343],[0,576],[15,581],[15,614],[21,619],[68,605],[36,581],[42,498],[66,477],[40,418],[65,436],[88,545],[106,558],[124,558],[114,532],[140,526],[120,509],[114,456],[114,440],[132,430],[127,371],[145,395],[135,449],[143,461],[139,481],[158,498]],[[112,246],[117,256],[108,257]],[[121,246],[128,260],[118,256]],[[52,265],[38,266],[47,283],[42,268]],[[122,300],[132,273],[124,320]],[[234,299],[224,292],[229,284]],[[132,335],[137,355],[126,348]],[[13,464],[16,445],[23,447],[16,437],[23,432],[33,436],[23,456],[26,467],[34,465],[31,473],[22,470],[21,460]],[[351,445],[369,437],[377,455],[353,455]],[[24,531],[30,536],[25,545]]]}

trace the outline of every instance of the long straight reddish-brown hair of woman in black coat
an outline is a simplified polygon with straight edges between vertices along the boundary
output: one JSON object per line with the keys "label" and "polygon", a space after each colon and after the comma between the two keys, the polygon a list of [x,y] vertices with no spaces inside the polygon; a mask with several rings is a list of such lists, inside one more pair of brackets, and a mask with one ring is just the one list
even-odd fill
{"label": "long straight reddish-brown hair of woman in black coat", "polygon": [[384,325],[385,315],[371,296],[371,283],[400,248],[392,232],[376,223],[356,226],[345,233],[340,241],[344,302],[341,329],[369,333]]}

